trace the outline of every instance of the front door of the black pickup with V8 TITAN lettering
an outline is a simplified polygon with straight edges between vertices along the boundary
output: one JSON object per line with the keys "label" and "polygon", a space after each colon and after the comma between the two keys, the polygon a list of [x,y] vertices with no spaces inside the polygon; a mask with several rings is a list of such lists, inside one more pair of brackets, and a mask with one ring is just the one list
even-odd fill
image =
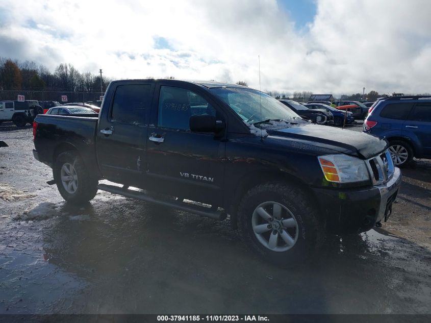
{"label": "front door of the black pickup with V8 TITAN lettering", "polygon": [[[147,136],[147,181],[154,189],[180,198],[220,206],[225,143],[214,134],[190,131],[192,115],[223,119],[210,97],[187,85],[160,82]],[[193,90],[192,90],[193,89]]]}

